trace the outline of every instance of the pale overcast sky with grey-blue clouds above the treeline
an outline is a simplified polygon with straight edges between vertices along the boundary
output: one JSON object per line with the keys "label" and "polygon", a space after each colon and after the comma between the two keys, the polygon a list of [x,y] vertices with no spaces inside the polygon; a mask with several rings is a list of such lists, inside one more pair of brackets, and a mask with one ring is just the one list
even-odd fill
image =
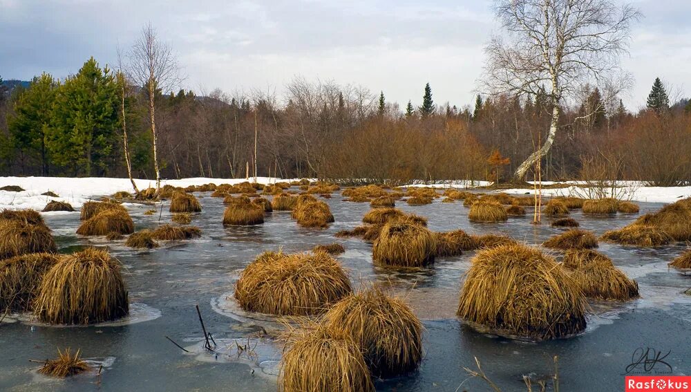
{"label": "pale overcast sky with grey-blue clouds above the treeline", "polygon": [[[645,18],[632,30],[623,67],[635,84],[629,109],[645,104],[656,76],[672,98],[691,93],[691,1],[634,1]],[[267,88],[296,76],[384,91],[404,106],[471,104],[482,47],[496,32],[492,1],[449,0],[0,0],[0,75],[63,78],[90,56],[114,64],[151,21],[173,46],[186,88]]]}

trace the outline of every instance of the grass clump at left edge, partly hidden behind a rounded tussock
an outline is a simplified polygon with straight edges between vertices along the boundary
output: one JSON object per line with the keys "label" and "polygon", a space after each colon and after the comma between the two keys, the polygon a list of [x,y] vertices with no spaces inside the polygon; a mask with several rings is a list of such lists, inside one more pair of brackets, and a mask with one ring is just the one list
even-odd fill
{"label": "grass clump at left edge, partly hidden behind a rounded tussock", "polygon": [[0,315],[31,310],[44,274],[58,260],[52,253],[30,253],[0,260]]}

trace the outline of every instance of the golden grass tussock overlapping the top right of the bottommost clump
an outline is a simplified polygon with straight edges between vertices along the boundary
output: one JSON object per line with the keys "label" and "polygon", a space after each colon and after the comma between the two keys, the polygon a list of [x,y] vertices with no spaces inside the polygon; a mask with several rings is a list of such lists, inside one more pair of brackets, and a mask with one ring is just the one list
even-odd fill
{"label": "golden grass tussock overlapping the top right of the bottommost clump", "polygon": [[415,370],[422,361],[422,322],[405,301],[369,288],[341,299],[326,312],[324,327],[349,335],[377,377]]}

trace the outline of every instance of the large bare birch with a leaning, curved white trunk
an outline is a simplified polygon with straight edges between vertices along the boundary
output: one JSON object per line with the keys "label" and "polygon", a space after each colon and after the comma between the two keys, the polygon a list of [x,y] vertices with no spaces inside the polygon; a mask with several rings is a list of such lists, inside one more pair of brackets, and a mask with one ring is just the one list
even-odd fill
{"label": "large bare birch with a leaning, curved white trunk", "polygon": [[612,0],[497,0],[495,14],[507,34],[485,48],[486,88],[532,97],[544,88],[550,100],[547,138],[515,171],[514,180],[523,180],[549,152],[562,106],[580,86],[625,86],[619,57],[627,53],[630,25],[641,14]]}

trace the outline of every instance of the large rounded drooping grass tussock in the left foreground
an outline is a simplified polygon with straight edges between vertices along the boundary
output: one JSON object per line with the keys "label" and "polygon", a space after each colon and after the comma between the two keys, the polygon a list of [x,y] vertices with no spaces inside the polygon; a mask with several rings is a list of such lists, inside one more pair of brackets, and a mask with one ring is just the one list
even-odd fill
{"label": "large rounded drooping grass tussock in the left foreground", "polygon": [[121,267],[95,248],[61,257],[41,281],[35,315],[50,324],[94,324],[128,315]]}

